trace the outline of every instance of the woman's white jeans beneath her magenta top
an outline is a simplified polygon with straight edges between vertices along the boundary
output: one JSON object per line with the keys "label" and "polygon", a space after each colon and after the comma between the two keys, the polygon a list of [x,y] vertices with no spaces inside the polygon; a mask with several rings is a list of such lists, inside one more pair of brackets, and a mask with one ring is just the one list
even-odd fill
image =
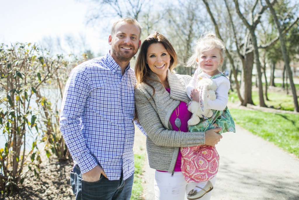
{"label": "woman's white jeans beneath her magenta top", "polygon": [[[216,182],[216,176],[211,180],[213,186]],[[204,187],[206,182],[202,183],[188,183],[185,181],[182,172],[174,172],[173,177],[171,177],[171,173],[169,172],[158,172],[155,171],[155,199],[156,200],[184,200],[190,190],[194,189],[196,185]],[[212,195],[212,191],[208,192],[200,198],[200,200],[209,200]]]}

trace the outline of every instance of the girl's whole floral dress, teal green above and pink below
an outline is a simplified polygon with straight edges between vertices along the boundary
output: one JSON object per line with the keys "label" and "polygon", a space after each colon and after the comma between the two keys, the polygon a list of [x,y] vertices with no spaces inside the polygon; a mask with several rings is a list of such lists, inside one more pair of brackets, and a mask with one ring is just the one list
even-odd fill
{"label": "girl's whole floral dress, teal green above and pink below", "polygon": [[[210,79],[224,76],[216,74]],[[226,77],[226,76],[225,76]],[[209,129],[221,127],[221,133],[236,132],[235,123],[227,106],[224,110],[212,110],[210,118],[202,118],[199,124],[188,126],[190,132],[204,132]],[[216,147],[199,145],[193,147],[181,147],[181,171],[188,182],[203,182],[213,178],[219,168],[219,154]]]}

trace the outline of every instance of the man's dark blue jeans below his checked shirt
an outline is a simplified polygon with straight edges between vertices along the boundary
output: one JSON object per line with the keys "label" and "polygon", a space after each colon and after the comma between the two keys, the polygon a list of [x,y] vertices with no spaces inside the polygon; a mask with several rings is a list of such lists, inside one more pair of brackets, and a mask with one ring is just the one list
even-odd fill
{"label": "man's dark blue jeans below his checked shirt", "polygon": [[129,200],[131,198],[134,174],[126,180],[123,180],[123,173],[121,173],[120,180],[109,181],[101,175],[98,181],[86,182],[82,180],[80,167],[76,165],[72,169],[70,176],[76,200]]}

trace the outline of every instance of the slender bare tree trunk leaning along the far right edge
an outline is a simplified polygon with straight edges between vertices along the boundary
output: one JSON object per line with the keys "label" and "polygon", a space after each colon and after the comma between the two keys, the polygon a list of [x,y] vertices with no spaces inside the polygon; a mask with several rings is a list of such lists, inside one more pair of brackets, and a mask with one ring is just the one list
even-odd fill
{"label": "slender bare tree trunk leaning along the far right edge", "polygon": [[293,82],[293,75],[292,75],[292,70],[291,70],[290,63],[289,63],[289,56],[287,55],[286,44],[283,40],[283,34],[282,34],[281,27],[280,27],[280,22],[277,19],[277,16],[276,16],[276,13],[275,13],[275,10],[274,10],[272,4],[269,2],[269,0],[265,0],[265,1],[267,2],[268,6],[270,8],[270,12],[271,12],[271,14],[274,18],[274,22],[275,22],[275,25],[276,25],[276,28],[277,28],[277,31],[278,31],[278,34],[279,34],[281,51],[282,51],[282,54],[283,54],[283,60],[284,60],[284,63],[285,63],[285,67],[286,67],[288,76],[289,76],[289,82],[290,82],[291,89],[292,89],[292,94],[293,94],[293,100],[294,100],[294,106],[295,106],[294,111],[299,112],[296,88],[295,88],[295,85],[294,85],[294,82]]}

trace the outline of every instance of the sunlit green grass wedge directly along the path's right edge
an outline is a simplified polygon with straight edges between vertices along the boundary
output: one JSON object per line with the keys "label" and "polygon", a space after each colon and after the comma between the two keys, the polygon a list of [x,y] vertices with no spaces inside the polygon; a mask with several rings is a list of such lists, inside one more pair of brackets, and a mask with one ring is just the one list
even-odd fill
{"label": "sunlit green grass wedge directly along the path's right edge", "polygon": [[229,109],[234,121],[299,158],[299,115]]}

